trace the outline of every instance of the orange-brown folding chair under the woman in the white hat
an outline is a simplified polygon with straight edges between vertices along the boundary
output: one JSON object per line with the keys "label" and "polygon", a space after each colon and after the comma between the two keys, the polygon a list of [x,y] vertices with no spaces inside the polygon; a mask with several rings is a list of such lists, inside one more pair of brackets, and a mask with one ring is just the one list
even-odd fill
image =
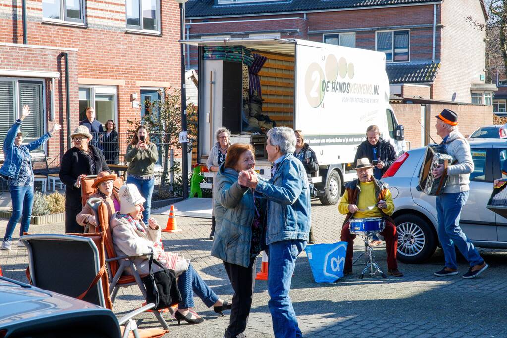
{"label": "orange-brown folding chair under the woman in the white hat", "polygon": [[[146,300],[146,287],[144,287],[141,276],[137,272],[134,263],[131,261],[131,259],[134,259],[137,256],[118,256],[116,254],[111,229],[109,227],[109,220],[112,216],[109,211],[111,210],[111,205],[107,204],[112,204],[112,201],[110,199],[103,201],[100,198],[90,198],[88,200],[88,205],[91,206],[93,212],[95,213],[95,219],[98,220],[98,231],[104,234],[105,262],[107,264],[107,276],[110,283],[109,292],[111,293],[111,302],[115,302],[120,287],[128,287],[136,284],[139,287],[142,296]],[[153,253],[147,252],[147,254],[140,256],[150,255],[153,255]],[[131,275],[126,274],[128,268],[130,268],[130,271],[132,272]],[[159,311],[152,311],[152,313],[163,328],[168,328],[165,319]]]}

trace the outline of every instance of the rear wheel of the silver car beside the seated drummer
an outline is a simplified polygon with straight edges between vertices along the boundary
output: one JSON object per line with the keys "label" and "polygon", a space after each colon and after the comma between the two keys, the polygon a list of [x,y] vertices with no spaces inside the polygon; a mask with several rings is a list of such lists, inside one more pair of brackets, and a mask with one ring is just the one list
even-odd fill
{"label": "rear wheel of the silver car beside the seated drummer", "polygon": [[394,222],[398,232],[398,260],[421,263],[433,255],[437,239],[427,221],[417,215],[400,215]]}

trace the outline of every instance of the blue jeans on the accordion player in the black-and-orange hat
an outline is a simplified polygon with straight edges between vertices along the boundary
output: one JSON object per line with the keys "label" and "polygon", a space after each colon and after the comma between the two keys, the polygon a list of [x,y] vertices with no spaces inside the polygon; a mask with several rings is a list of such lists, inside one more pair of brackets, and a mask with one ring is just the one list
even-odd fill
{"label": "blue jeans on the accordion player in the black-and-orange hat", "polygon": [[474,244],[466,237],[459,226],[461,209],[468,199],[469,191],[442,194],[437,197],[438,233],[442,250],[444,250],[445,266],[457,269],[456,245],[470,266],[481,265],[484,260],[477,252]]}

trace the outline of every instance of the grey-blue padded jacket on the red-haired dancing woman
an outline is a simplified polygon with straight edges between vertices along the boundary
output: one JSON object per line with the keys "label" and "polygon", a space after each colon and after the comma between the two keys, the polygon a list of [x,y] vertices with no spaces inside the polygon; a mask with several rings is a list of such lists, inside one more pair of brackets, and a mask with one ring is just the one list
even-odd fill
{"label": "grey-blue padded jacket on the red-haired dancing woman", "polygon": [[248,267],[251,225],[255,216],[253,192],[238,183],[238,173],[222,164],[216,173],[213,210],[216,221],[211,256],[224,262]]}

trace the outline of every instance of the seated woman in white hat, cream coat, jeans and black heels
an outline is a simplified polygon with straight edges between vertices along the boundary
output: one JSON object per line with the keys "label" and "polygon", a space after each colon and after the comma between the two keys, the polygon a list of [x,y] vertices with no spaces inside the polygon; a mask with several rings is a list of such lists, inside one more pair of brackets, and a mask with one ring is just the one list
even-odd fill
{"label": "seated woman in white hat, cream coat, jeans and black heels", "polygon": [[[221,300],[213,290],[202,280],[190,264],[190,260],[183,259],[177,254],[164,252],[160,245],[161,228],[154,218],[148,220],[148,226],[142,221],[144,198],[137,187],[128,183],[120,188],[119,213],[113,215],[110,226],[113,235],[113,244],[119,256],[139,256],[154,252],[154,258],[164,264],[168,269],[175,271],[178,277],[178,288],[183,301],[178,304],[178,310],[174,314],[178,324],[184,320],[190,324],[198,324],[203,318],[193,310],[194,295],[199,297],[207,307],[213,306],[216,313],[222,314],[223,310],[230,310],[231,304]],[[140,274],[149,273],[148,257],[134,259],[134,264]],[[154,271],[160,270],[153,265]],[[193,292],[192,292],[193,291]]]}

